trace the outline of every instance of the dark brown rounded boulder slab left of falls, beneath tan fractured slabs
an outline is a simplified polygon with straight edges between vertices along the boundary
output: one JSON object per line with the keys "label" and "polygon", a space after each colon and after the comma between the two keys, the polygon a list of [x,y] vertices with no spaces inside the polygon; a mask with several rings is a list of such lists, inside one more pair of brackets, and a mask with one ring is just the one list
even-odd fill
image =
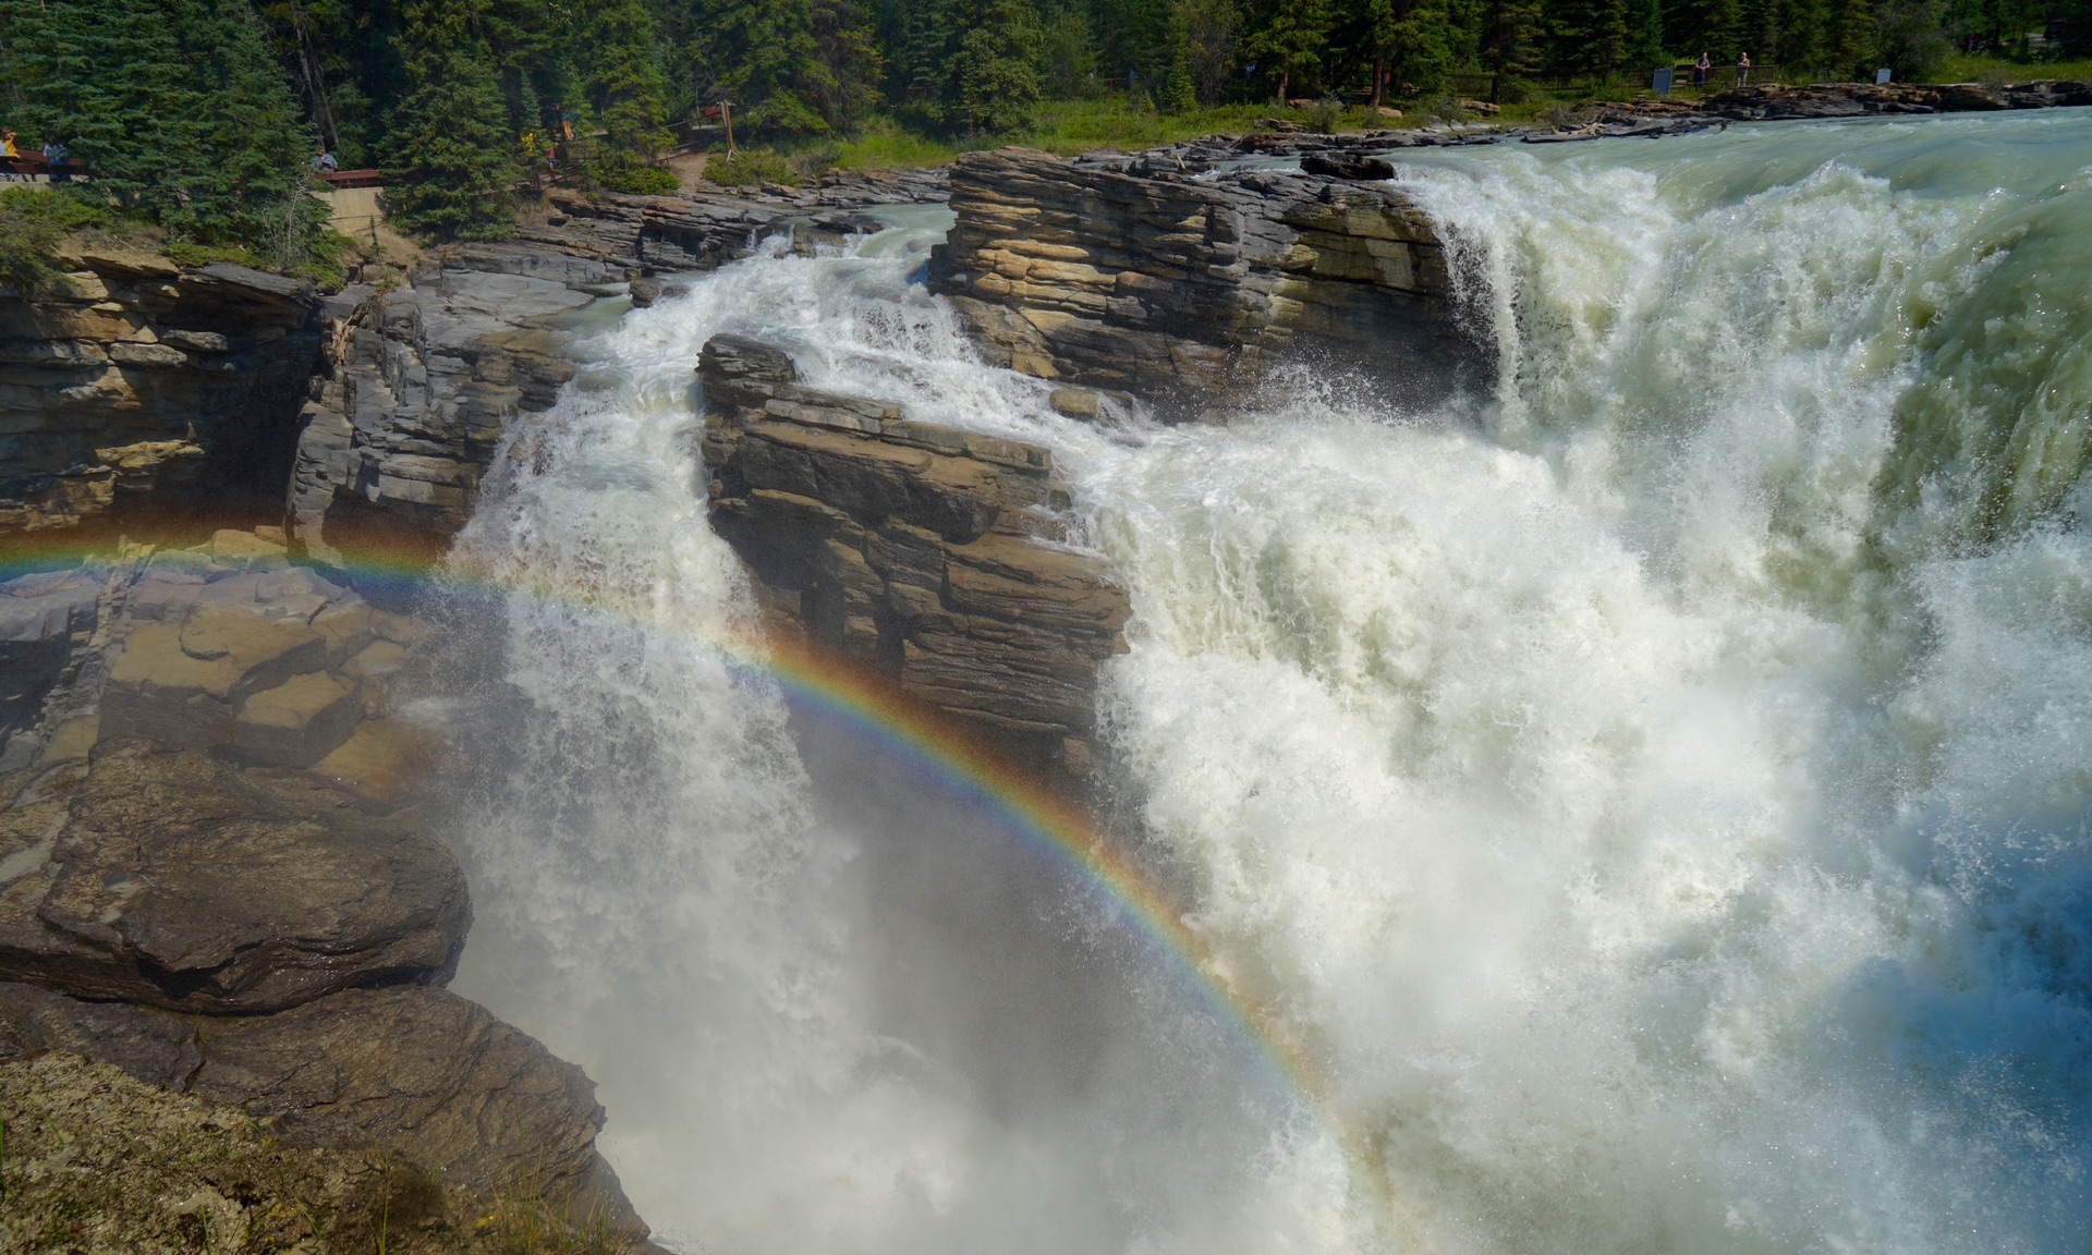
{"label": "dark brown rounded boulder slab left of falls, beneath tan fractured slabs", "polygon": [[0,979],[259,1012],[437,983],[471,908],[456,860],[316,780],[105,743],[0,812]]}

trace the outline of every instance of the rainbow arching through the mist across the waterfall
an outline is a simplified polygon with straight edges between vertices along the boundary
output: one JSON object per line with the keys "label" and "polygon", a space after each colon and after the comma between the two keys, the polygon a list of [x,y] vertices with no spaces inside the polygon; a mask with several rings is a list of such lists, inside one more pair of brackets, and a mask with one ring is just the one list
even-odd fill
{"label": "rainbow arching through the mist across the waterfall", "polygon": [[[17,538],[19,542],[21,538]],[[27,571],[52,571],[84,561],[109,561],[111,548],[77,544],[17,544],[0,554],[0,581]],[[1295,1033],[1278,1006],[1228,979],[1213,943],[1186,922],[1184,906],[1161,887],[1094,816],[1031,772],[985,745],[979,734],[908,697],[883,676],[851,665],[810,642],[782,634],[701,636],[686,623],[619,604],[600,590],[561,588],[548,579],[492,579],[458,561],[406,548],[360,548],[331,575],[362,592],[423,592],[502,600],[517,594],[559,602],[615,628],[674,634],[720,653],[734,669],[774,682],[789,699],[858,730],[923,770],[950,793],[994,814],[1025,845],[1044,851],[1100,893],[1125,922],[1186,973],[1207,1010],[1249,1048],[1272,1083],[1328,1130],[1383,1219],[1400,1224],[1387,1165],[1374,1138],[1349,1119],[1316,1052]],[[1414,1245],[1414,1242],[1412,1242]]]}

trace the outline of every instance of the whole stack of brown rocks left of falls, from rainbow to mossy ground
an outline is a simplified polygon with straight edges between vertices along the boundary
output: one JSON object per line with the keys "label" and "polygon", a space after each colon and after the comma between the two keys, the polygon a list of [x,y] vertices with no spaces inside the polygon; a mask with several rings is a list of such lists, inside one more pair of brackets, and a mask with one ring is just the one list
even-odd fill
{"label": "whole stack of brown rocks left of falls, from rainbow to mossy ground", "polygon": [[0,755],[0,1058],[69,1050],[642,1234],[590,1081],[441,989],[471,906],[420,832],[441,738],[400,709],[433,628],[241,531],[8,592],[63,657]]}

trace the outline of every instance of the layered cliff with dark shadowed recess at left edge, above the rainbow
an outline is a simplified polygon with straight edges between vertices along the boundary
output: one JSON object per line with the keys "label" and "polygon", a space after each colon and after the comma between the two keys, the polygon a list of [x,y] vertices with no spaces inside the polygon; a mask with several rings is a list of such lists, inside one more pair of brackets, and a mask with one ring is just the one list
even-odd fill
{"label": "layered cliff with dark shadowed recess at left edge, above the rainbow", "polygon": [[0,533],[270,517],[320,366],[320,297],[243,266],[75,245],[0,289]]}

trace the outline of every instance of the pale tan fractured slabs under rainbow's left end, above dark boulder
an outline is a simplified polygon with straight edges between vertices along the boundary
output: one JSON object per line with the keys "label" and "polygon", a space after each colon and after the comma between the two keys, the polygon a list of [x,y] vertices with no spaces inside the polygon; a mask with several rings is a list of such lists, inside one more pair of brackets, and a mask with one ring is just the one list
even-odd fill
{"label": "pale tan fractured slabs under rainbow's left end, above dark boulder", "polygon": [[192,550],[132,546],[27,575],[0,584],[8,621],[25,661],[0,671],[19,692],[0,770],[151,738],[299,768],[385,812],[439,757],[397,717],[433,630],[291,567],[280,540],[220,531]]}

